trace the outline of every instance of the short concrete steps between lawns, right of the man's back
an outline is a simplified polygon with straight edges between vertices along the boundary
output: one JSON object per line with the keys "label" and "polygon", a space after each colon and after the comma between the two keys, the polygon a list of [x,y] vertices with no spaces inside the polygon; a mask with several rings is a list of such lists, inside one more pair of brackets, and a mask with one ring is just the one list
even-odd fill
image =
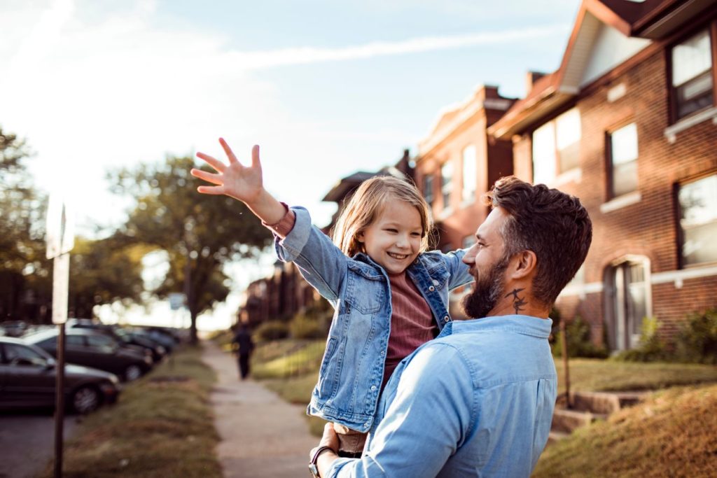
{"label": "short concrete steps between lawns, right of the man's back", "polygon": [[566,438],[580,426],[606,420],[610,414],[635,405],[645,395],[645,392],[571,392],[570,408],[567,397],[561,395],[556,401],[548,444]]}

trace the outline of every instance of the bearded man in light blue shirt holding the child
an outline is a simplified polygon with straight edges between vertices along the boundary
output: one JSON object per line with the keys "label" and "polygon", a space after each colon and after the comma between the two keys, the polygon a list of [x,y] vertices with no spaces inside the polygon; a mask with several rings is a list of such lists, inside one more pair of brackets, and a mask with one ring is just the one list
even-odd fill
{"label": "bearded man in light blue shirt holding the child", "polygon": [[336,455],[326,425],[312,472],[327,477],[528,477],[548,439],[557,377],[549,311],[584,261],[580,201],[501,178],[463,259],[470,317],[405,358],[381,396],[361,459]]}

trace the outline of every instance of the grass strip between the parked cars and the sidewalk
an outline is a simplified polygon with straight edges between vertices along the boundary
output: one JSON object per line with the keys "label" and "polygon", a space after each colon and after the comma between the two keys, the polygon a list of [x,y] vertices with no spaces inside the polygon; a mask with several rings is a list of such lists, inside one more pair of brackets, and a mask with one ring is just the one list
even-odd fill
{"label": "grass strip between the parked cars and the sidewalk", "polygon": [[[209,393],[214,371],[182,348],[125,384],[114,406],[86,417],[65,443],[63,476],[222,477]],[[52,477],[52,463],[42,477]]]}

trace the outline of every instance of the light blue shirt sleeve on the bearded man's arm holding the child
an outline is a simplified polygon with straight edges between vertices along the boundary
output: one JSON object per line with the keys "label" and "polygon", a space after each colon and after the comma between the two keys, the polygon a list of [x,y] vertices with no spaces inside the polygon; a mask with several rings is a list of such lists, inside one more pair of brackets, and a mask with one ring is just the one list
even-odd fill
{"label": "light blue shirt sleeve on the bearded man's arm holding the child", "polygon": [[[328,477],[435,477],[470,436],[473,377],[450,345],[424,346],[391,377],[361,459],[337,459]],[[381,413],[379,411],[379,413]]]}

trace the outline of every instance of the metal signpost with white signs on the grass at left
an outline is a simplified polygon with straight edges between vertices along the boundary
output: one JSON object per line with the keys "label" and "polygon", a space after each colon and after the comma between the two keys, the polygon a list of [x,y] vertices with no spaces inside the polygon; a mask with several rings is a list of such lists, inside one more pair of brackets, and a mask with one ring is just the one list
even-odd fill
{"label": "metal signpost with white signs on the grass at left", "polygon": [[70,285],[70,251],[75,246],[72,216],[67,204],[57,195],[50,196],[47,207],[47,259],[52,264],[52,323],[57,324],[57,369],[54,400],[54,477],[62,477],[62,426],[65,420],[65,322],[67,293]]}

